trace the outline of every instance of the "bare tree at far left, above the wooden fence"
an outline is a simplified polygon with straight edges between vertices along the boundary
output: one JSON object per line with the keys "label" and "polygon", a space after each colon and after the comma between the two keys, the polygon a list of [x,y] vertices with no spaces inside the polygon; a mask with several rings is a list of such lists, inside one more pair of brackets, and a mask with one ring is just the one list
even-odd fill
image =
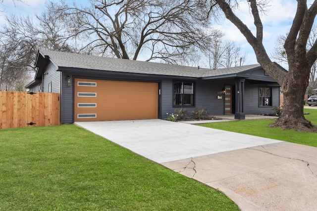
{"label": "bare tree at far left, above the wooden fence", "polygon": [[58,18],[50,5],[35,23],[30,16],[6,18],[0,30],[0,90],[21,90],[30,81],[38,49],[76,51]]}

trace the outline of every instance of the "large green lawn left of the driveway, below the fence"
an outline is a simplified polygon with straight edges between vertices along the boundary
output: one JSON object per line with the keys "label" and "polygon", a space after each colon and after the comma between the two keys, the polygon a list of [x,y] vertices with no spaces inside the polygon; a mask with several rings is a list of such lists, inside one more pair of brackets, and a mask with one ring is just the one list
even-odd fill
{"label": "large green lawn left of the driveway, below the fence", "polygon": [[218,191],[73,125],[0,130],[0,211],[234,211]]}

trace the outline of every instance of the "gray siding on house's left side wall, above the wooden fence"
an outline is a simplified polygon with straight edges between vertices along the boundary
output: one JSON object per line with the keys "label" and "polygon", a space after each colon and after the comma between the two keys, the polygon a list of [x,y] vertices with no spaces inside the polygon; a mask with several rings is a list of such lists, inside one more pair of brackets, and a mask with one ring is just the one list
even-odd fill
{"label": "gray siding on house's left side wall, above the wooden fence", "polygon": [[49,84],[52,83],[52,92],[60,93],[60,75],[56,66],[50,61],[43,75],[43,92],[49,92]]}

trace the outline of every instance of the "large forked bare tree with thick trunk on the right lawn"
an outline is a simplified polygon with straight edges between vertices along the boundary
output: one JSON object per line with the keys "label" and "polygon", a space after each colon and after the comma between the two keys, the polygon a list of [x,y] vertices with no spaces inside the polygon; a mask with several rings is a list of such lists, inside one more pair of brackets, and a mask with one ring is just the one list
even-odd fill
{"label": "large forked bare tree with thick trunk on the right lawn", "polygon": [[289,71],[278,68],[268,57],[263,45],[263,24],[260,13],[265,9],[266,1],[248,0],[254,18],[256,34],[236,16],[231,0],[214,0],[215,8],[220,8],[244,35],[253,47],[258,62],[264,70],[282,87],[284,93],[284,108],[282,115],[270,126],[301,131],[315,131],[317,127],[304,117],[303,99],[309,83],[310,71],[317,59],[317,41],[307,49],[307,42],[317,14],[317,0],[308,8],[306,0],[297,0],[297,11],[293,24],[284,42]]}

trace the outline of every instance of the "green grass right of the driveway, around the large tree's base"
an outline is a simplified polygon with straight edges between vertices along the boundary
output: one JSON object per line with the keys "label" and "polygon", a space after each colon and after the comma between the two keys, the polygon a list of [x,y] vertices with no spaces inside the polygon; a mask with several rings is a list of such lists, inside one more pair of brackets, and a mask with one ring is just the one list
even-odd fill
{"label": "green grass right of the driveway, around the large tree's base", "polygon": [[[317,109],[305,109],[304,112],[310,113],[309,115],[305,115],[306,119],[317,125]],[[244,120],[210,123],[201,126],[317,147],[317,133],[297,132],[295,130],[282,130],[277,127],[268,127],[272,122],[274,122],[274,120]]]}

